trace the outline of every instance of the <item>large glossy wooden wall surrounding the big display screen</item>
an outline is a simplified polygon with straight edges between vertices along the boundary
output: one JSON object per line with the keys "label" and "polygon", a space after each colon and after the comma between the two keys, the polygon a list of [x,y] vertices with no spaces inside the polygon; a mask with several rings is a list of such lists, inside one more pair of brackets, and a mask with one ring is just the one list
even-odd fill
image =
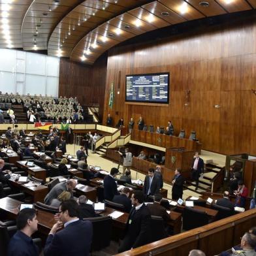
{"label": "large glossy wooden wall surrounding the big display screen", "polygon": [[[244,20],[112,48],[108,52],[103,123],[108,112],[115,123],[124,118],[125,125],[131,117],[137,122],[139,116],[155,127],[166,127],[172,120],[176,135],[185,129],[188,137],[195,130],[206,150],[256,154],[256,95],[251,92],[256,89],[255,31],[256,23]],[[150,72],[170,72],[169,106],[125,104],[125,74]],[[112,109],[108,106],[111,82],[115,84]],[[190,100],[185,106],[187,90]]]}

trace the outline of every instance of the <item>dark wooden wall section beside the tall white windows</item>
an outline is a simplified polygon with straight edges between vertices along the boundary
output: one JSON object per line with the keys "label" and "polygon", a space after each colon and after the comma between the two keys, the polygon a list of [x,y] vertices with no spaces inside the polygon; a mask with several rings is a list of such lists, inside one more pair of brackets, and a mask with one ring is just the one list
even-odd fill
{"label": "dark wooden wall section beside the tall white windows", "polygon": [[82,65],[61,58],[59,63],[59,96],[77,97],[82,105],[99,104],[100,118],[103,116],[106,84],[106,55],[93,66]]}

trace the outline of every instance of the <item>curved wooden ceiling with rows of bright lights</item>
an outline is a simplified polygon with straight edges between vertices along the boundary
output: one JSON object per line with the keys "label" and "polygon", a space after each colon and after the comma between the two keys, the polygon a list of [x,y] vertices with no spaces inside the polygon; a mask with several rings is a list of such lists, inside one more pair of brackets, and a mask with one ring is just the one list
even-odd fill
{"label": "curved wooden ceiling with rows of bright lights", "polygon": [[148,31],[251,10],[256,0],[0,0],[0,48],[48,50],[93,64],[112,46]]}

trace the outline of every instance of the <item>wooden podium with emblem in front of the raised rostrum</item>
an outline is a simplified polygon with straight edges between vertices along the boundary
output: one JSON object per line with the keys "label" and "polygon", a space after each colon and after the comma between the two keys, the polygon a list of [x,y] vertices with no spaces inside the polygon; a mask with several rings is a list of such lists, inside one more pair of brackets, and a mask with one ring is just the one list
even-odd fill
{"label": "wooden podium with emblem in front of the raised rostrum", "polygon": [[185,150],[184,148],[167,148],[165,152],[165,167],[170,168],[171,170],[181,168],[184,178],[189,178],[193,157],[193,150]]}

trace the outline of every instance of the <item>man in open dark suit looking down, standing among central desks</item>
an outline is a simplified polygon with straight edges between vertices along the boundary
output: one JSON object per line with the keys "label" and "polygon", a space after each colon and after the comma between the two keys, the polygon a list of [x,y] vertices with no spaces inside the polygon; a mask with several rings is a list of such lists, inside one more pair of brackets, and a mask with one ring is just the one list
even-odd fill
{"label": "man in open dark suit looking down, standing among central desks", "polygon": [[155,195],[156,193],[159,193],[160,181],[154,175],[154,172],[155,170],[153,168],[150,168],[148,170],[148,175],[145,177],[144,180],[142,191],[146,197],[148,197],[149,195]]}

